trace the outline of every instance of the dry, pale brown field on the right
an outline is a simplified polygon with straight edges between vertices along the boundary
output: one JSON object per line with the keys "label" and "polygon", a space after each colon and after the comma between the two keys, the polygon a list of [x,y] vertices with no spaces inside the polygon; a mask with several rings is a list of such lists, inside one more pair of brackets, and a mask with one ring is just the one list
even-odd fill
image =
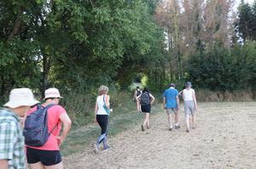
{"label": "dry, pale brown field on the right", "polygon": [[107,152],[63,158],[65,168],[256,168],[256,103],[201,103],[197,127],[185,132],[167,129],[163,110],[152,112],[151,128],[140,126],[109,138]]}

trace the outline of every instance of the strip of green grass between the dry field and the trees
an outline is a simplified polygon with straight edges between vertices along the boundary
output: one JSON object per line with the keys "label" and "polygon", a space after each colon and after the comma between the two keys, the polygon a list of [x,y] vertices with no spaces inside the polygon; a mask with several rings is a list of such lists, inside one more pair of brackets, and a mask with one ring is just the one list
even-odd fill
{"label": "strip of green grass between the dry field and the trees", "polygon": [[[158,109],[159,105],[154,105],[152,115]],[[142,121],[143,115],[137,113],[136,103],[132,100],[128,103],[126,102],[126,106],[114,110],[113,114],[110,115],[108,137],[114,137],[116,134],[135,126],[139,127]],[[95,143],[100,131],[100,127],[92,123],[84,127],[74,127],[69,133],[67,140],[61,146],[61,154],[68,156],[83,151],[85,146],[91,146]]]}

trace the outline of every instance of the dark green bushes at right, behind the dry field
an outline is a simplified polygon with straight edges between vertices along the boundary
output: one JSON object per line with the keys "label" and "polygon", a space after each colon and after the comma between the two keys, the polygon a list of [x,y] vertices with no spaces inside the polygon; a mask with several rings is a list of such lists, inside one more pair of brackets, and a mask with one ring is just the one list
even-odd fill
{"label": "dark green bushes at right, behind the dry field", "polygon": [[255,65],[255,42],[236,45],[230,51],[216,45],[206,54],[191,57],[188,64],[189,79],[196,87],[213,91],[255,88]]}

